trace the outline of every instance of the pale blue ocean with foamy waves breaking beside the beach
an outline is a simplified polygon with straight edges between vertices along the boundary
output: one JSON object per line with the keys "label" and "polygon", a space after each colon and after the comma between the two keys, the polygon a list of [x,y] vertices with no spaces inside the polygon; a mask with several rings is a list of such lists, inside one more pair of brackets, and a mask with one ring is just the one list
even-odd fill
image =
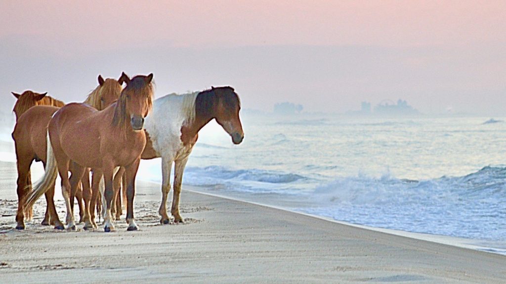
{"label": "pale blue ocean with foamy waves breaking beside the beach", "polygon": [[[183,188],[506,254],[506,118],[241,119],[240,145],[214,121],[199,132]],[[142,161],[137,177],[161,182],[160,159]]]}

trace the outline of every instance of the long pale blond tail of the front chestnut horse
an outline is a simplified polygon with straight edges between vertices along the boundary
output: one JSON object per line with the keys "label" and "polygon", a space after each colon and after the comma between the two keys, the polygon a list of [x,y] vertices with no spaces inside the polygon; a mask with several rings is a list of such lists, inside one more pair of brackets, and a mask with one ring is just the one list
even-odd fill
{"label": "long pale blond tail of the front chestnut horse", "polygon": [[58,166],[56,164],[55,155],[53,153],[53,147],[51,146],[51,141],[49,139],[49,132],[47,134],[47,155],[46,155],[46,171],[44,172],[44,176],[35,182],[33,185],[33,190],[30,192],[28,197],[25,199],[24,208],[25,210],[29,210],[33,207],[33,204],[47,191],[50,190],[52,186],[55,185],[56,177],[58,175]]}

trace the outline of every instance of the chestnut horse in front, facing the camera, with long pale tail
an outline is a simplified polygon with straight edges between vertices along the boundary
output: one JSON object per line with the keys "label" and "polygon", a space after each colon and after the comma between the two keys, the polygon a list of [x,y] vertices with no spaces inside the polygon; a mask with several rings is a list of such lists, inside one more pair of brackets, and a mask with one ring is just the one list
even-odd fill
{"label": "chestnut horse in front, facing the camera, with long pale tail", "polygon": [[[130,79],[124,72],[121,78],[126,86],[116,103],[103,111],[87,104],[71,103],[59,109],[48,124],[47,166],[44,176],[36,183],[24,205],[31,208],[33,203],[47,192],[54,183],[57,174],[61,178],[62,194],[67,208],[67,229],[75,230],[74,216],[70,207],[70,192],[75,190],[77,182],[86,168],[99,170],[105,179],[106,214],[104,231],[114,230],[111,217],[113,196],[113,174],[116,167],[125,168],[127,206],[127,230],[137,230],[134,220],[133,202],[135,195],[135,177],[142,151],[146,145],[143,131],[144,118],[152,109],[153,74],[137,75]],[[75,167],[70,179],[69,162]],[[85,206],[90,200],[85,197]],[[90,216],[85,210],[85,226]]]}

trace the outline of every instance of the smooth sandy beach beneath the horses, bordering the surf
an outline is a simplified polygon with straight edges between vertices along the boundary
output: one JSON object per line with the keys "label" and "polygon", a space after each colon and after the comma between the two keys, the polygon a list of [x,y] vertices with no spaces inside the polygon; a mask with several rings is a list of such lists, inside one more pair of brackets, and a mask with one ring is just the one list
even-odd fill
{"label": "smooth sandy beach beneath the horses, bordering the surf", "polygon": [[506,256],[185,190],[186,223],[160,225],[159,185],[147,182],[139,231],[124,220],[110,233],[56,231],[39,225],[43,200],[17,231],[15,169],[0,169],[1,283],[506,283]]}

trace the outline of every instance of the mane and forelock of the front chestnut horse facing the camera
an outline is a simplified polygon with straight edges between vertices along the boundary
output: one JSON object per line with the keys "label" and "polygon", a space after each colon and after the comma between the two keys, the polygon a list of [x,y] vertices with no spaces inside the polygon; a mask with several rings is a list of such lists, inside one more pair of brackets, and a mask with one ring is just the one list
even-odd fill
{"label": "mane and forelock of the front chestnut horse facing the camera", "polygon": [[131,93],[142,92],[146,104],[148,105],[148,113],[153,109],[154,82],[144,83],[144,76],[135,76],[131,83],[121,91],[121,94],[114,107],[114,115],[112,117],[112,125],[118,126],[123,133],[126,132],[126,126],[130,123],[130,117],[126,113],[126,100]]}

